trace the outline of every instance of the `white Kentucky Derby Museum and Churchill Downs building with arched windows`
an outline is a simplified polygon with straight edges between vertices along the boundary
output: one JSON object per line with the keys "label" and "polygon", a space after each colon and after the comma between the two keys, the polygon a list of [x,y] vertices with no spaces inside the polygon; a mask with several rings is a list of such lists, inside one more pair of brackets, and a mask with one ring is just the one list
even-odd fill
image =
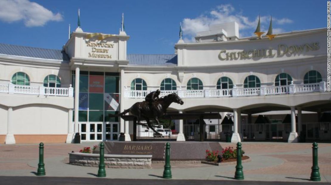
{"label": "white Kentucky Derby Museum and Churchill Downs building with arched windows", "polygon": [[[169,112],[219,112],[203,120],[206,139],[331,139],[327,29],[239,38],[235,22],[211,25],[175,54],[127,54],[129,36],[78,27],[63,50],[0,44],[0,143],[132,139],[117,114],[151,91],[177,93]],[[196,120],[176,120],[177,140]],[[214,134],[214,135],[212,135]],[[211,138],[209,138],[211,137]]]}

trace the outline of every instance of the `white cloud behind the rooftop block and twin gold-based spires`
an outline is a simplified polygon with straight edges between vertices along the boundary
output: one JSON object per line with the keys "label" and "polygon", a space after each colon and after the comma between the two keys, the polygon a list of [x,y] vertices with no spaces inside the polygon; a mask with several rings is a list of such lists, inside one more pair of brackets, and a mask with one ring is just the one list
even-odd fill
{"label": "white cloud behind the rooftop block and twin gold-based spires", "polygon": [[[277,19],[272,18],[274,24],[286,24],[293,21],[289,18]],[[239,25],[240,37],[249,37],[254,35],[253,32],[258,25],[259,16],[254,19],[250,19],[248,16],[244,16],[241,13],[237,13],[235,8],[231,4],[222,4],[216,7],[214,10],[210,10],[207,14],[200,15],[197,18],[184,18],[182,24],[184,41],[195,42],[195,35],[199,31],[208,31],[209,25],[219,24],[225,22],[236,21]],[[267,32],[269,28],[270,16],[260,16],[261,31]],[[274,33],[283,32],[281,28],[273,29]]]}

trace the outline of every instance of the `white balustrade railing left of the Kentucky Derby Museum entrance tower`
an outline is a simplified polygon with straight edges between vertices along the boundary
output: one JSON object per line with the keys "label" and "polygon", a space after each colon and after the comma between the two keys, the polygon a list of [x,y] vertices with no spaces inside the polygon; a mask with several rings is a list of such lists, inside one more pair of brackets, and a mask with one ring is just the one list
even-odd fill
{"label": "white balustrade railing left of the Kentucky Derby Museum entrance tower", "polygon": [[45,95],[45,96],[69,96],[73,97],[73,88],[58,88],[44,86],[29,86],[15,84],[0,84],[0,93]]}

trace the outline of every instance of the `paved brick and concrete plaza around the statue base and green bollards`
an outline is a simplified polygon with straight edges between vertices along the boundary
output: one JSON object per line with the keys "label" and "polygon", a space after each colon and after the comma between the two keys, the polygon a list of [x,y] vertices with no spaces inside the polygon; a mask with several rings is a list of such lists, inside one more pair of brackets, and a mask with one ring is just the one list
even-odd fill
{"label": "paved brick and concrete plaza around the statue base and green bollards", "polygon": [[[44,148],[46,177],[97,178],[98,168],[68,164],[69,152],[78,152],[84,146],[92,147],[95,144],[98,143],[46,143]],[[221,146],[223,148],[235,147],[235,144],[221,142]],[[254,184],[253,181],[269,181],[270,184],[271,181],[311,182],[309,181],[312,166],[311,147],[311,143],[242,142],[245,155],[251,158],[251,162],[242,164],[245,176],[243,181],[252,184]],[[318,143],[318,147],[318,166],[321,182],[329,183],[331,182],[331,143]],[[22,176],[20,179],[28,178],[24,176],[35,176],[38,167],[38,156],[38,144],[0,145],[0,176],[2,176],[0,179],[12,179],[8,176]],[[106,168],[107,177],[105,178],[163,180],[163,165],[152,164],[152,169]],[[211,166],[174,163],[171,164],[171,167],[172,179],[226,180],[226,182],[234,180],[235,165]],[[35,178],[31,177],[31,179]],[[137,181],[137,184],[139,184],[138,182],[142,183],[143,181]],[[181,182],[184,181],[174,182],[176,182],[174,184],[183,184]],[[213,184],[212,182],[209,184]],[[236,182],[239,181],[236,180]]]}

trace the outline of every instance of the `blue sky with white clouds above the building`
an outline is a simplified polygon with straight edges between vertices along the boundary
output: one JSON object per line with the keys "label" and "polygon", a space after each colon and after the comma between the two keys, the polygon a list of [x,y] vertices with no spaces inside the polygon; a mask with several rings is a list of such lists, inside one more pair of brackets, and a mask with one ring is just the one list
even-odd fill
{"label": "blue sky with white clouds above the building", "polygon": [[326,0],[0,0],[0,43],[61,49],[68,40],[68,25],[77,27],[80,8],[84,32],[118,34],[121,15],[130,39],[128,54],[173,54],[182,22],[185,42],[214,23],[236,20],[241,37],[251,36],[261,16],[267,31],[326,27]]}

